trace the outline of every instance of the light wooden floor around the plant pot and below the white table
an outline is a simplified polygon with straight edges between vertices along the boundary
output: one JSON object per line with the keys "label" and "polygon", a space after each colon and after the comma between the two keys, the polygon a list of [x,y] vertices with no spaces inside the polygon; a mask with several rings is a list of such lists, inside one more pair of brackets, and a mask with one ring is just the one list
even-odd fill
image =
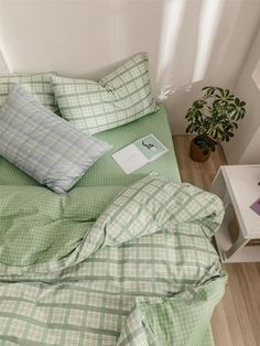
{"label": "light wooden floor around the plant pot and below the white table", "polygon": [[[174,136],[183,182],[208,190],[220,164],[220,148],[205,163],[188,158],[191,136]],[[225,264],[229,281],[213,316],[216,346],[260,346],[260,263]]]}

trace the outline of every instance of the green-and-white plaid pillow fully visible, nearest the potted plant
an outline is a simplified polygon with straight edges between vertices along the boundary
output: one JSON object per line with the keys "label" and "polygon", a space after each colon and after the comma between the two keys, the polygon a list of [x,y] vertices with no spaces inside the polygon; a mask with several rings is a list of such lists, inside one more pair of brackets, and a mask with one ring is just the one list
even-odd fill
{"label": "green-and-white plaid pillow fully visible, nearest the potted plant", "polygon": [[91,134],[158,110],[147,53],[136,54],[99,83],[58,76],[52,80],[62,117]]}

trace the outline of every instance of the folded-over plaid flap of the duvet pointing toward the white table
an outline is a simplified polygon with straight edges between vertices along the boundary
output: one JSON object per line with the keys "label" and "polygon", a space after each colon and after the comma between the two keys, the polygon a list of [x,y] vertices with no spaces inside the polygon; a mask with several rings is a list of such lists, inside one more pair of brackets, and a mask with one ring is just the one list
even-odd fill
{"label": "folded-over plaid flap of the duvet pointing toward the white table", "polygon": [[161,229],[176,231],[189,223],[210,238],[223,216],[223,203],[217,196],[189,184],[148,176],[127,188],[102,213],[87,235],[78,261],[100,246],[119,246]]}

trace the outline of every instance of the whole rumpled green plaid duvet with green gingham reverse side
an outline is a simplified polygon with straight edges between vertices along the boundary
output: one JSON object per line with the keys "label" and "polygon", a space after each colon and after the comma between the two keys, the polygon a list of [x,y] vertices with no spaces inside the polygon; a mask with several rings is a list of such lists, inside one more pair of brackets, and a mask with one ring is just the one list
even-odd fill
{"label": "whole rumpled green plaid duvet with green gingham reverse side", "polygon": [[158,176],[120,190],[0,187],[1,345],[212,345],[221,202]]}

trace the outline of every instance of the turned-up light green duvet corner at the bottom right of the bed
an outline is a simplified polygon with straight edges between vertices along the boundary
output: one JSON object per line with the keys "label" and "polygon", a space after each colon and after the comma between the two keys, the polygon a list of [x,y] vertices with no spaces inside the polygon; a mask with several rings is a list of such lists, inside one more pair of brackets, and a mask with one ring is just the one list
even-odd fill
{"label": "turned-up light green duvet corner at the bottom right of the bed", "polygon": [[[224,295],[226,282],[227,277],[224,274],[173,298],[139,298],[136,309],[124,323],[118,346],[214,345],[209,322]],[[130,337],[132,326],[139,338],[138,344],[132,344]]]}

